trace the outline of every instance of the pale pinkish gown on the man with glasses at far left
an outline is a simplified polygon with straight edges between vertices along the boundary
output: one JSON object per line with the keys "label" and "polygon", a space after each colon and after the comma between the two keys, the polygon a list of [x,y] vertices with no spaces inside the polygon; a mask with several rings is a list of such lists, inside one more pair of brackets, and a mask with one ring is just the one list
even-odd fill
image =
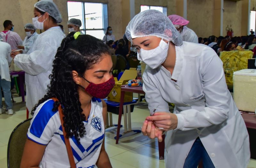
{"label": "pale pinkish gown on the man with glasses at far left", "polygon": [[3,37],[3,42],[7,42],[11,45],[12,50],[18,50],[16,46],[22,45],[22,40],[19,34],[16,32],[12,32],[11,30],[9,30],[8,32],[6,32],[6,34],[4,32],[0,32],[0,35]]}

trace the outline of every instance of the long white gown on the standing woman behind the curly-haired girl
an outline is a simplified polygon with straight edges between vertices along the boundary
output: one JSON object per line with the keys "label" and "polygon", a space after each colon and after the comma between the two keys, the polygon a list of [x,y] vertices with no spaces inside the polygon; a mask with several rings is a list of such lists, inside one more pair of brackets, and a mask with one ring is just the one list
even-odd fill
{"label": "long white gown on the standing woman behind the curly-haired girl", "polygon": [[59,26],[52,27],[38,35],[28,54],[18,54],[14,58],[14,63],[26,72],[26,106],[29,112],[47,93],[52,62],[64,37],[65,34]]}

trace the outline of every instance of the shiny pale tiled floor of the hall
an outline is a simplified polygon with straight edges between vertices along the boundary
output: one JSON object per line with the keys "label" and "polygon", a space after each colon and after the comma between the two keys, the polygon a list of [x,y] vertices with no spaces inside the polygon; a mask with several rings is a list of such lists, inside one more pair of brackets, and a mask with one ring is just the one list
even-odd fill
{"label": "shiny pale tiled floor of the hall", "polygon": [[[7,144],[12,130],[21,121],[26,119],[25,103],[21,97],[14,97],[12,116],[0,115],[0,168],[7,168]],[[147,103],[139,103],[132,114],[132,128],[140,129],[143,120],[148,116]],[[117,115],[113,115],[114,124],[117,123]],[[123,118],[122,123],[123,124]],[[123,128],[121,128],[123,131]],[[129,133],[132,134],[132,133]],[[128,134],[128,135],[129,135]],[[158,159],[158,143],[150,140],[142,134],[134,134],[119,139],[116,144],[116,127],[106,129],[105,148],[113,168],[164,168],[164,160]],[[256,160],[251,159],[248,168],[256,168]]]}

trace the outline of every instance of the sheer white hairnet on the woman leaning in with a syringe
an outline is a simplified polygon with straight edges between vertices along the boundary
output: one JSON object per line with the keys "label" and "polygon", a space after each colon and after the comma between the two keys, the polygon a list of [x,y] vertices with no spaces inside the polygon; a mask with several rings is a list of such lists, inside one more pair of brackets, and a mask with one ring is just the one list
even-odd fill
{"label": "sheer white hairnet on the woman leaning in with a syringe", "polygon": [[180,33],[171,20],[156,10],[146,10],[134,16],[126,27],[125,34],[130,42],[136,37],[157,36],[173,42],[176,46],[182,44]]}

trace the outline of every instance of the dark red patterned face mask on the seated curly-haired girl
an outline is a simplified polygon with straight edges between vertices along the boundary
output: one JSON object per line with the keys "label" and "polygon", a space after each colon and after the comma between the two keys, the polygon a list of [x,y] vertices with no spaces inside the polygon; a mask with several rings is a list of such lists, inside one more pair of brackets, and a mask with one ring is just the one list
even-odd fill
{"label": "dark red patterned face mask on the seated curly-haired girl", "polygon": [[[86,80],[83,76],[82,78]],[[87,86],[87,88],[84,88],[81,85],[78,85],[78,86],[80,86],[81,88],[84,88],[84,90],[88,92],[90,95],[92,95],[93,97],[100,98],[100,99],[106,98],[115,85],[115,80],[113,76],[108,81],[100,84],[95,84],[88,80],[86,81],[90,83]]]}

